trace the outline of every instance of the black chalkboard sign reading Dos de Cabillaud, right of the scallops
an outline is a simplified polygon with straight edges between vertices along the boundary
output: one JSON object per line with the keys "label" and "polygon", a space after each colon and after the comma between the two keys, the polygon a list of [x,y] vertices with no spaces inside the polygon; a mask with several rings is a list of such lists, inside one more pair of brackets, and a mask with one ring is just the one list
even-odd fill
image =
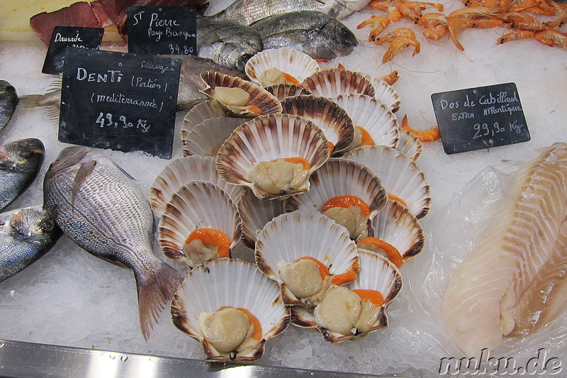
{"label": "black chalkboard sign reading Dos de Cabillaud, right of the scallops", "polygon": [[527,142],[529,130],[514,83],[431,95],[447,154]]}

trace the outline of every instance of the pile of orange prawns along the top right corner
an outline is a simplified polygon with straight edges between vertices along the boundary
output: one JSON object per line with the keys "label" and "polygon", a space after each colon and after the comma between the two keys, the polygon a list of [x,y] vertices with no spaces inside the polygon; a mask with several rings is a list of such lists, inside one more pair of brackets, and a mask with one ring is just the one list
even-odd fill
{"label": "pile of orange prawns along the top right corner", "polygon": [[[413,55],[420,52],[420,43],[409,28],[383,31],[392,23],[410,21],[422,28],[422,35],[430,40],[440,40],[449,35],[459,50],[464,47],[459,35],[468,28],[510,29],[496,41],[503,44],[512,40],[535,38],[551,47],[567,50],[567,33],[559,28],[567,22],[567,4],[554,0],[461,0],[464,8],[448,15],[443,4],[423,1],[371,0],[369,6],[382,11],[381,16],[371,16],[357,26],[371,26],[369,41],[376,45],[389,45],[382,63],[392,60],[398,52],[412,46]],[[431,9],[432,12],[424,13]],[[546,18],[547,21],[541,21]]]}

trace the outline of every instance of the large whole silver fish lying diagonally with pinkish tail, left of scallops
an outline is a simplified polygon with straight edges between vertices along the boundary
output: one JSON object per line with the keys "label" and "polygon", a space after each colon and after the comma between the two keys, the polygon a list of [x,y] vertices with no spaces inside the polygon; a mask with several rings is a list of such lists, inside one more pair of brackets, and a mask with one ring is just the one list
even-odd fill
{"label": "large whole silver fish lying diagonally with pinkish tail, left of scallops", "polygon": [[133,179],[97,150],[65,148],[45,174],[43,208],[92,255],[133,270],[147,340],[184,275],[153,254],[154,216]]}

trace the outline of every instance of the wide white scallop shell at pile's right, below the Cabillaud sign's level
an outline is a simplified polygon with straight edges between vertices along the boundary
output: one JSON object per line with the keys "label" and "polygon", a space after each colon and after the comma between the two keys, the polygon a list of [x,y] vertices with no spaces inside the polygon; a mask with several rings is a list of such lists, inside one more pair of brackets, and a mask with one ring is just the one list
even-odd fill
{"label": "wide white scallop shell at pile's right, below the Cabillaud sign's level", "polygon": [[430,211],[431,193],[425,174],[409,157],[394,148],[364,145],[342,157],[369,167],[386,188],[386,192],[403,199],[410,213],[421,219]]}

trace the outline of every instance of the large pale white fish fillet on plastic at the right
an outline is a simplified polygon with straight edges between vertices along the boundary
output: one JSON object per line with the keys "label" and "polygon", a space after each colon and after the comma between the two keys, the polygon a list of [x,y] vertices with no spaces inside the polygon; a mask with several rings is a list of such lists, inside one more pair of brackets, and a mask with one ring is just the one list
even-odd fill
{"label": "large pale white fish fillet on plastic at the right", "polygon": [[498,347],[512,332],[522,294],[553,254],[567,216],[567,144],[541,150],[511,188],[511,200],[444,294],[447,330],[468,356]]}

